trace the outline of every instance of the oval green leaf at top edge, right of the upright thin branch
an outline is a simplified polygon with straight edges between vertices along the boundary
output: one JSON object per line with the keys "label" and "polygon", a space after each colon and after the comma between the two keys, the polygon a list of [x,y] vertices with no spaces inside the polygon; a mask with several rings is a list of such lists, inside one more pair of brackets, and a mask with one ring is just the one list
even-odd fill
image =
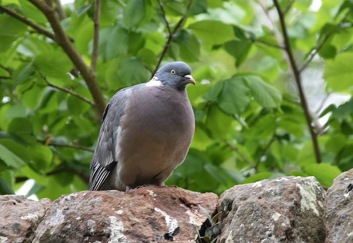
{"label": "oval green leaf at top edge, right of the upright thin branch", "polygon": [[123,22],[128,28],[137,26],[146,15],[145,1],[129,0],[124,8]]}

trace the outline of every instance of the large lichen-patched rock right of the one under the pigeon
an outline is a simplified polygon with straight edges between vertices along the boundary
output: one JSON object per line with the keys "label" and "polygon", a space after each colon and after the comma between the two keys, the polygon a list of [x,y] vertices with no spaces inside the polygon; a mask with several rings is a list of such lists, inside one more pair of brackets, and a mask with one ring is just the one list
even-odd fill
{"label": "large lichen-patched rock right of the one under the pigeon", "polygon": [[[237,185],[218,201],[217,242],[324,242],[325,191],[315,177]],[[343,229],[342,229],[343,230]]]}

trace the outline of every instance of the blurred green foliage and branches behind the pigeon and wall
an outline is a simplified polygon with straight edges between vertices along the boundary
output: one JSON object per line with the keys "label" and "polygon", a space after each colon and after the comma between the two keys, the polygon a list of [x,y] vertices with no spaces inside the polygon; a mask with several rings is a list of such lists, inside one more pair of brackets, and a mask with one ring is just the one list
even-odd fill
{"label": "blurred green foliage and branches behind the pigeon and wall", "polygon": [[196,132],[167,185],[313,175],[327,188],[353,167],[352,23],[352,0],[1,0],[0,194],[87,190],[102,100],[174,60],[197,81]]}

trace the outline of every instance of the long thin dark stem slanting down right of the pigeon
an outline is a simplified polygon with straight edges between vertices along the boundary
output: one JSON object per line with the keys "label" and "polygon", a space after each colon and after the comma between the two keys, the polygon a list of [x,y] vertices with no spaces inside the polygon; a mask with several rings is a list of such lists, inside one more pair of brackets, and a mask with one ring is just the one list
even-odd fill
{"label": "long thin dark stem slanting down right of the pigeon", "polygon": [[285,25],[285,21],[284,21],[284,15],[283,12],[280,9],[279,3],[277,0],[273,0],[273,3],[276,7],[278,16],[279,16],[279,22],[280,22],[280,26],[282,29],[282,34],[283,34],[283,39],[284,39],[284,46],[285,46],[285,51],[288,54],[288,59],[289,59],[289,66],[291,67],[292,71],[293,71],[293,76],[294,79],[297,83],[297,87],[298,87],[298,91],[299,91],[299,97],[301,99],[301,104],[304,110],[304,115],[307,121],[307,125],[309,128],[309,132],[311,135],[311,139],[313,142],[313,146],[314,146],[314,151],[315,151],[315,157],[316,157],[316,162],[320,163],[321,162],[321,154],[320,154],[320,149],[319,149],[319,144],[318,144],[318,140],[317,140],[317,134],[314,131],[314,128],[312,127],[312,119],[310,116],[310,111],[309,111],[309,107],[308,107],[308,103],[304,94],[304,90],[302,87],[302,83],[301,83],[301,77],[300,77],[300,72],[298,70],[296,61],[293,57],[293,53],[290,47],[290,43],[289,43],[289,37],[288,37],[288,33],[287,33],[287,29],[286,29],[286,25]]}

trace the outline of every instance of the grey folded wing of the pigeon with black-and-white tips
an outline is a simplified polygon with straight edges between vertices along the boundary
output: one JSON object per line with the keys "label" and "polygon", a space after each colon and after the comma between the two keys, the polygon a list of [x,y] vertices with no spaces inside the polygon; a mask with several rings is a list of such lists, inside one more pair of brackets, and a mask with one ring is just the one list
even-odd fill
{"label": "grey folded wing of the pigeon with black-and-white tips", "polygon": [[106,185],[111,171],[115,168],[116,131],[120,118],[125,114],[126,101],[131,88],[117,92],[105,107],[99,131],[97,147],[91,161],[91,176],[88,188],[90,191],[110,190]]}

